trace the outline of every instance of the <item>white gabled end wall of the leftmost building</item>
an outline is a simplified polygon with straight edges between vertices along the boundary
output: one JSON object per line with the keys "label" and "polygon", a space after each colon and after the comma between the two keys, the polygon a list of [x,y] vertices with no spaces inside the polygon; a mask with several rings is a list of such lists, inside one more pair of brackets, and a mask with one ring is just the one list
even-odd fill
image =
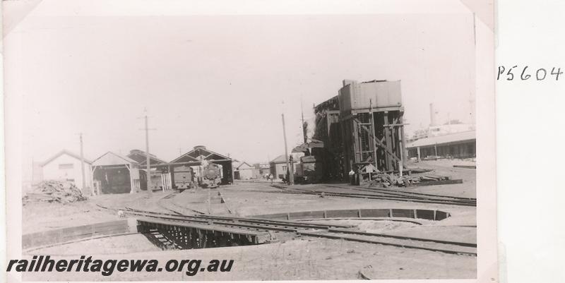
{"label": "white gabled end wall of the leftmost building", "polygon": [[[81,173],[81,160],[63,153],[42,167],[43,180],[73,180],[78,188],[83,188],[83,176]],[[90,164],[84,164],[86,187],[91,185]]]}

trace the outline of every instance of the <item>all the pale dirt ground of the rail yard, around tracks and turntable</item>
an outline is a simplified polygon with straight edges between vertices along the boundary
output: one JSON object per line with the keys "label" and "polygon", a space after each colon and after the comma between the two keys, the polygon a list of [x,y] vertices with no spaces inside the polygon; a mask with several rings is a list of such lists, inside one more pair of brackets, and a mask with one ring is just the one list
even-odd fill
{"label": "all the pale dirt ground of the rail yard, around tracks and turntable", "polygon": [[[417,167],[435,169],[433,174],[446,174],[463,179],[463,184],[398,188],[398,190],[475,197],[475,169],[450,167],[441,162],[420,162]],[[305,185],[306,186],[306,185]],[[320,185],[307,185],[320,186]],[[339,222],[353,224],[362,231],[416,236],[476,243],[475,207],[410,203],[362,198],[321,198],[319,195],[268,193],[280,191],[268,182],[241,182],[219,189],[196,189],[183,193],[173,191],[149,194],[100,195],[72,204],[32,203],[23,207],[23,233],[71,227],[119,219],[110,208],[132,207],[141,210],[170,212],[166,207],[213,215],[253,216],[280,212],[313,210],[343,210],[359,208],[436,209],[449,212],[451,217],[442,221],[416,219],[419,223],[394,222],[386,219],[342,219],[312,222]],[[218,195],[218,192],[221,193]],[[172,195],[171,195],[172,194]],[[209,195],[209,197],[208,197]],[[169,197],[169,198],[166,198]],[[210,203],[208,204],[208,198]],[[222,203],[222,198],[224,202]],[[415,220],[415,219],[411,219]],[[116,236],[81,241],[33,251],[33,254],[76,259],[93,255],[97,259],[234,259],[232,272],[199,272],[188,277],[184,272],[114,272],[111,277],[83,272],[59,274],[40,273],[25,275],[26,280],[273,280],[273,279],[359,279],[359,270],[370,266],[374,279],[439,279],[475,278],[476,257],[448,255],[432,251],[396,248],[352,241],[299,237],[292,241],[240,246],[207,248],[201,250],[160,251],[141,234]]]}

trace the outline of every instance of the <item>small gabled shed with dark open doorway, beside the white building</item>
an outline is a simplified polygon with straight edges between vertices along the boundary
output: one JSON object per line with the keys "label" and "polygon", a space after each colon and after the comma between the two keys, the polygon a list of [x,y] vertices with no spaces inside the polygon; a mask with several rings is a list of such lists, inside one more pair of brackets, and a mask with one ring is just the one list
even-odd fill
{"label": "small gabled shed with dark open doorway, beside the white building", "polygon": [[129,157],[106,152],[93,161],[92,168],[97,194],[136,193],[141,189],[139,163]]}

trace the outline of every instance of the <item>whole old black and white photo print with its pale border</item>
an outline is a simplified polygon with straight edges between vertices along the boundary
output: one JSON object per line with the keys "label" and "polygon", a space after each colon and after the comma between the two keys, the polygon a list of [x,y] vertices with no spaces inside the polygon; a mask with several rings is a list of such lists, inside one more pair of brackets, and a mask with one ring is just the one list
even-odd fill
{"label": "whole old black and white photo print with its pale border", "polygon": [[236,2],[4,1],[8,282],[491,282],[492,3]]}

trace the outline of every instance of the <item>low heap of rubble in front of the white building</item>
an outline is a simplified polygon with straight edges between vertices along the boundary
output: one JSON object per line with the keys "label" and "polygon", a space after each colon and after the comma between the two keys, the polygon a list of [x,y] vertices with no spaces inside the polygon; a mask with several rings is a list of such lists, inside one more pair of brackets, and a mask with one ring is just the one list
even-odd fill
{"label": "low heap of rubble in front of the white building", "polygon": [[35,202],[75,203],[87,200],[81,189],[69,181],[43,181],[22,198],[23,205]]}

